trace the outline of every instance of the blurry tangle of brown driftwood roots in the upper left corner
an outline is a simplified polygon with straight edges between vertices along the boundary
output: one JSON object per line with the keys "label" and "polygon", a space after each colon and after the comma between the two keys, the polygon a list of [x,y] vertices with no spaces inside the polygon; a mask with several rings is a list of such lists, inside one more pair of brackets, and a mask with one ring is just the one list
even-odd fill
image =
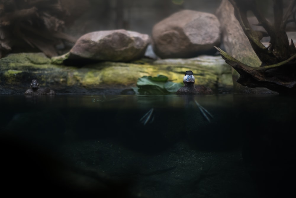
{"label": "blurry tangle of brown driftwood roots in the upper left corner", "polygon": [[[56,45],[75,39],[63,33],[69,10],[61,0],[1,0],[0,58],[8,52],[42,51],[57,56]],[[72,2],[71,2],[72,3]]]}

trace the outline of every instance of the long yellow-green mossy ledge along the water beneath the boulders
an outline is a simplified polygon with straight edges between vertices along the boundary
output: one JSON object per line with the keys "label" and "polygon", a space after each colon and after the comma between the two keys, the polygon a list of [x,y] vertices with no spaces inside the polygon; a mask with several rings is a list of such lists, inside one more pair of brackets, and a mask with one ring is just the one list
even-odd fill
{"label": "long yellow-green mossy ledge along the water beneath the boulders", "polygon": [[194,72],[197,84],[216,92],[228,92],[233,87],[231,68],[220,56],[99,62],[84,66],[65,66],[62,64],[65,58],[67,55],[50,59],[43,53],[15,53],[0,59],[0,93],[23,94],[33,78],[58,94],[100,94],[106,89],[118,92],[136,86],[138,78],[145,75],[165,75],[179,83],[186,70]]}

